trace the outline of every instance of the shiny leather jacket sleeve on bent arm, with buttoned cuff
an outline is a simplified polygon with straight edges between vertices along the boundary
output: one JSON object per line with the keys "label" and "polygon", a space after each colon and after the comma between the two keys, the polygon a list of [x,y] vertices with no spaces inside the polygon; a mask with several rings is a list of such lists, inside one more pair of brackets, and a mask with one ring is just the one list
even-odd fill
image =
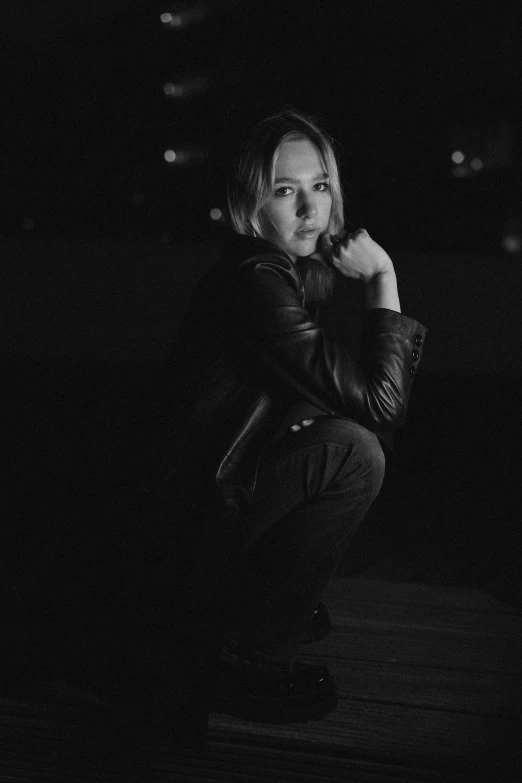
{"label": "shiny leather jacket sleeve on bent arm, with buttoned cuff", "polygon": [[278,388],[374,432],[404,422],[427,331],[422,324],[393,310],[368,311],[356,361],[311,320],[289,259],[247,259],[231,288],[228,306],[244,360]]}

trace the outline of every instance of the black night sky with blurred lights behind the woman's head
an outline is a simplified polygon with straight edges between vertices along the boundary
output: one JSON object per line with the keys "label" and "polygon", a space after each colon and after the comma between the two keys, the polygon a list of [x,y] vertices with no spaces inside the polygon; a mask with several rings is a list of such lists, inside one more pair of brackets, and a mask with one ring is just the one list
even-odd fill
{"label": "black night sky with blurred lights behind the woman's head", "polygon": [[[282,103],[339,142],[347,227],[401,249],[470,250],[497,247],[519,219],[521,68],[505,8],[229,0],[192,24],[161,23],[195,5],[1,12],[8,234],[207,238],[227,154]],[[164,84],[194,78],[206,88],[165,96]],[[203,162],[165,162],[190,147]],[[456,149],[483,168],[456,175]]]}

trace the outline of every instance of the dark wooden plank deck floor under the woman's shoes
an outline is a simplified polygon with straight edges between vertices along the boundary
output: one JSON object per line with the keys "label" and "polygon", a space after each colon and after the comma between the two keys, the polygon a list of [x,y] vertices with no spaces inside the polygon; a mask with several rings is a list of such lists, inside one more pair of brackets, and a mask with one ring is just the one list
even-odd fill
{"label": "dark wooden plank deck floor under the woman's shoes", "polygon": [[65,706],[0,699],[0,779],[94,783],[514,783],[521,618],[479,591],[333,579],[333,632],[301,660],[340,694],[320,721],[212,714],[205,752],[123,741]]}

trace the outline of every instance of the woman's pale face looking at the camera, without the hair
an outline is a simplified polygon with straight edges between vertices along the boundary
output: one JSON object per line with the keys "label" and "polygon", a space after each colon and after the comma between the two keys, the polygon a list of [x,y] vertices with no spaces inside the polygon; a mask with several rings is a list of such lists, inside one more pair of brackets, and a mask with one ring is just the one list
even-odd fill
{"label": "woman's pale face looking at the camera, without the hair", "polygon": [[260,214],[263,236],[294,261],[309,256],[328,228],[331,207],[329,178],[317,147],[308,139],[285,141]]}

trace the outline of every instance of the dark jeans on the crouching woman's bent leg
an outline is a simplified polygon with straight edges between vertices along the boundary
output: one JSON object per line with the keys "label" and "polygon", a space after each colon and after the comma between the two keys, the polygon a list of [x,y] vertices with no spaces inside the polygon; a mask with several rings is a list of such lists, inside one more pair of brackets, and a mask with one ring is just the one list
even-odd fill
{"label": "dark jeans on the crouching woman's bent leg", "polygon": [[239,537],[224,651],[290,665],[384,467],[376,435],[346,419],[317,419],[270,444]]}

